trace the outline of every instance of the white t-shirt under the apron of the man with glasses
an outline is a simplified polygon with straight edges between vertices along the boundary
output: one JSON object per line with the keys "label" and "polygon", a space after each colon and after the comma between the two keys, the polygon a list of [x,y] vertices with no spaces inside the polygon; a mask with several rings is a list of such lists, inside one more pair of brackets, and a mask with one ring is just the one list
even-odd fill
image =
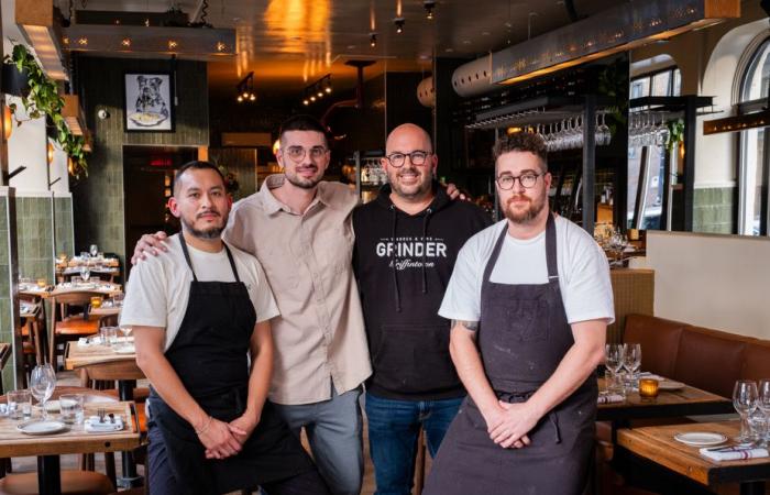
{"label": "white t-shirt under the apron of the man with glasses", "polygon": [[[570,323],[606,319],[615,321],[609,265],[602,249],[583,229],[556,218],[559,287]],[[507,220],[488,227],[460,250],[439,315],[452,320],[481,319],[481,288],[484,268]],[[492,270],[497,284],[547,284],[546,232],[526,241],[506,235]]]}

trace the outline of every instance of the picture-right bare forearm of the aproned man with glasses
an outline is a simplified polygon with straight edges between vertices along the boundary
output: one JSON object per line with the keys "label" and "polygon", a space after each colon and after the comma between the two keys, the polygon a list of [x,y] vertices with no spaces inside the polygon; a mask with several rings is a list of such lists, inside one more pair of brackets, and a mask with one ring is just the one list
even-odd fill
{"label": "picture-right bare forearm of the aproned man with glasses", "polygon": [[575,326],[583,327],[579,330],[583,337],[590,337],[575,339],[551,377],[528,400],[541,417],[572,395],[596,370],[604,356],[606,323],[586,321]]}

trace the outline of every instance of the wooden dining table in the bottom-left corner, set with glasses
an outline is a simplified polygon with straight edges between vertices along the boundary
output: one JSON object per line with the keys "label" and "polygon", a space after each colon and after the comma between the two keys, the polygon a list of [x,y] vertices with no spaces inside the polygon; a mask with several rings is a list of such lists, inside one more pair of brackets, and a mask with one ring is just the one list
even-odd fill
{"label": "wooden dining table in the bottom-left corner, set with glasses", "polygon": [[[61,392],[61,391],[59,391]],[[88,392],[70,387],[66,392]],[[62,493],[62,454],[130,451],[140,444],[140,430],[133,402],[87,402],[84,416],[87,418],[103,408],[108,414],[119,414],[127,418],[125,428],[119,432],[89,433],[82,424],[70,425],[66,431],[52,435],[29,436],[16,427],[22,420],[0,417],[0,459],[36,457],[38,491],[44,495]],[[35,408],[38,415],[38,409]],[[48,416],[55,416],[48,414]],[[33,419],[35,411],[33,411]]]}

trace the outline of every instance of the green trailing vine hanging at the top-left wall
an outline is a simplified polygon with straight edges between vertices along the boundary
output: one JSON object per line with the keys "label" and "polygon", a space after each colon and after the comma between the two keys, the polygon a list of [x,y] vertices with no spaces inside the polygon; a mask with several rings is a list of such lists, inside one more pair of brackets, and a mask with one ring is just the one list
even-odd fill
{"label": "green trailing vine hanging at the top-left wall", "polygon": [[[21,103],[30,119],[40,119],[43,116],[51,118],[56,128],[56,142],[72,160],[69,173],[76,178],[80,177],[80,174],[88,176],[88,163],[82,148],[85,140],[80,135],[73,134],[67,127],[62,116],[64,98],[59,96],[56,82],[45,75],[24,45],[14,45],[12,54],[7,55],[3,62],[15,66],[19,73],[26,74],[30,91],[21,96]],[[12,103],[9,108],[15,118],[16,106]],[[19,125],[22,123],[19,119],[16,122]]]}

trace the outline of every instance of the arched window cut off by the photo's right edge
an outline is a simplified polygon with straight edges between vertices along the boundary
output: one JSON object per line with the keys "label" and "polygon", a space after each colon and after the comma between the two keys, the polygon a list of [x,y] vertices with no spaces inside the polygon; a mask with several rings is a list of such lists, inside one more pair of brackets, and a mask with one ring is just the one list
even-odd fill
{"label": "arched window cut off by the photo's right edge", "polygon": [[[755,52],[740,86],[740,114],[761,111],[770,87],[770,38]],[[744,235],[768,234],[768,170],[766,153],[770,134],[765,129],[740,133],[739,219],[738,232]]]}

